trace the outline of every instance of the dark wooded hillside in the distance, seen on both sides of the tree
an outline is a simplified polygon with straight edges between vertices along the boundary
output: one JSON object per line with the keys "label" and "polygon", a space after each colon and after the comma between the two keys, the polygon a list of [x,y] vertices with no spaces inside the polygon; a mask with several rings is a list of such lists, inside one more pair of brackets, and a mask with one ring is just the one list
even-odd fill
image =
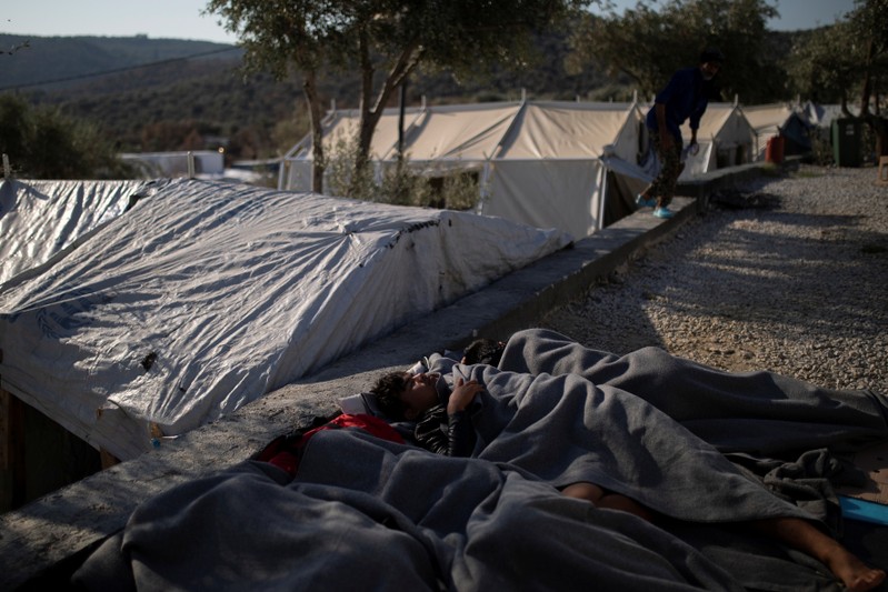
{"label": "dark wooded hillside in the distance, seen on both sides of the tree", "polygon": [[[20,48],[9,52],[9,48]],[[483,84],[457,84],[451,77],[415,77],[408,100],[435,102],[572,100],[607,83],[595,72],[563,71],[563,39],[540,39],[541,63],[522,74],[502,72]],[[94,122],[124,151],[216,148],[229,155],[262,158],[287,150],[308,130],[301,81],[270,76],[246,78],[236,46],[178,39],[21,37],[0,34],[0,92],[58,106]],[[358,78],[320,81],[328,104],[357,107]],[[203,146],[196,137],[204,138]]]}

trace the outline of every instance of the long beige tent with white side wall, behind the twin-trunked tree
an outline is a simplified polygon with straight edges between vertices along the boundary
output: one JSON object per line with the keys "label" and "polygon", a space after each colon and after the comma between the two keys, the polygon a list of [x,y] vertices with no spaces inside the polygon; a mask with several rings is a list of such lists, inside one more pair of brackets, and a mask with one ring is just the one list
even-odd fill
{"label": "long beige tent with white side wall, behind the twin-trunked tree", "polygon": [[[353,137],[356,111],[332,111],[325,150]],[[400,116],[385,111],[370,150],[377,165],[398,158]],[[638,165],[647,154],[642,113],[635,103],[499,102],[407,109],[403,152],[432,174],[479,171],[479,213],[582,238],[605,225],[608,172],[637,191],[650,180]],[[311,184],[310,139],[285,157],[279,187]],[[613,163],[612,165],[610,163]],[[621,183],[622,188],[627,183]],[[613,193],[617,188],[612,188]],[[631,195],[622,197],[631,203]],[[628,213],[628,212],[627,212]]]}

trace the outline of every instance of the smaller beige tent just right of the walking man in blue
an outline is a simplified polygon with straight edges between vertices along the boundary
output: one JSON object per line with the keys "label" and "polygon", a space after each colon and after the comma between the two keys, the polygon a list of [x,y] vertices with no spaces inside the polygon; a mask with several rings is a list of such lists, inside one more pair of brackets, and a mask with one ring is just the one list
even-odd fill
{"label": "smaller beige tent just right of the walking man in blue", "polygon": [[[690,141],[690,122],[681,127],[681,136]],[[697,130],[699,152],[688,154],[680,181],[700,174],[752,161],[756,132],[737,103],[709,103]]]}

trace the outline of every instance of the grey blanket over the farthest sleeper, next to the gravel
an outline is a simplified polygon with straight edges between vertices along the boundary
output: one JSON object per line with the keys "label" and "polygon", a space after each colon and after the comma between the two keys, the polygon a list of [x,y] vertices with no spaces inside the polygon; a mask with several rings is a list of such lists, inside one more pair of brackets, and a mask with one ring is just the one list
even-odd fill
{"label": "grey blanket over the farthest sleeper, next to the gravel", "polygon": [[722,372],[659,348],[627,355],[529,329],[507,343],[500,368],[578,374],[643,399],[722,452],[835,452],[888,439],[888,393],[824,389],[772,372]]}

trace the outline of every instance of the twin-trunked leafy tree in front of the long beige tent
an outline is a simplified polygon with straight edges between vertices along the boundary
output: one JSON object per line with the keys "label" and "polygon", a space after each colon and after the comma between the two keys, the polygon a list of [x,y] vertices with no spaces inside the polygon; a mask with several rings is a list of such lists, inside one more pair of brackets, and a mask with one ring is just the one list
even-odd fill
{"label": "twin-trunked leafy tree in front of the long beige tent", "polygon": [[520,67],[531,34],[590,0],[210,0],[246,50],[248,69],[278,77],[301,73],[310,106],[315,170],[322,190],[321,71],[356,69],[360,123],[355,169],[369,158],[382,110],[418,68],[477,74],[489,67]]}

